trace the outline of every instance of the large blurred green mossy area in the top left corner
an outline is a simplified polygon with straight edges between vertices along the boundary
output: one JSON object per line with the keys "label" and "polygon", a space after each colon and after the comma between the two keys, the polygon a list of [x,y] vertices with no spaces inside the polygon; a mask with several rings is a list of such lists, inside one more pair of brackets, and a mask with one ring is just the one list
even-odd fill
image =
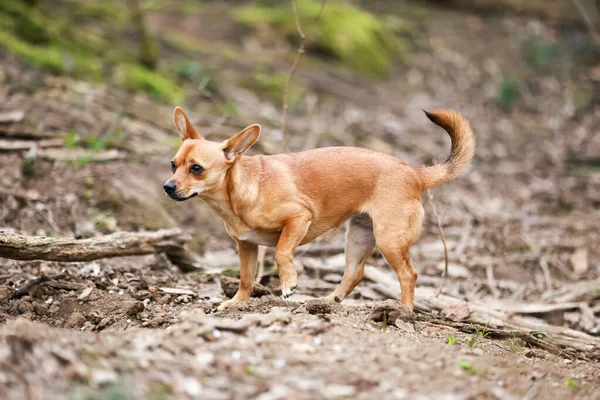
{"label": "large blurred green mossy area in the top left corner", "polygon": [[161,102],[183,100],[177,76],[143,65],[136,57],[140,44],[124,39],[130,20],[125,2],[63,3],[0,1],[0,49],[57,74],[107,80]]}

